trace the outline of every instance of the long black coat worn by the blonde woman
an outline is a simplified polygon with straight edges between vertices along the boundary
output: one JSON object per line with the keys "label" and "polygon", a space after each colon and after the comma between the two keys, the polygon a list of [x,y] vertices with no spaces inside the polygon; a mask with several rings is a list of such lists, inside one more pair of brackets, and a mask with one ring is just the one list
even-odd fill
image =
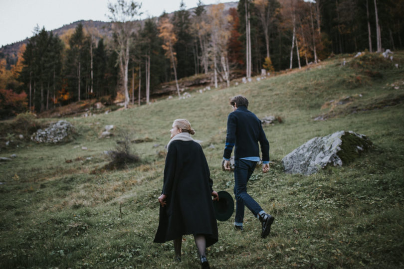
{"label": "long black coat worn by the blonde woman", "polygon": [[172,141],[166,157],[162,191],[167,195],[167,204],[160,206],[155,243],[190,234],[204,234],[206,247],[217,242],[212,184],[201,145],[195,141]]}

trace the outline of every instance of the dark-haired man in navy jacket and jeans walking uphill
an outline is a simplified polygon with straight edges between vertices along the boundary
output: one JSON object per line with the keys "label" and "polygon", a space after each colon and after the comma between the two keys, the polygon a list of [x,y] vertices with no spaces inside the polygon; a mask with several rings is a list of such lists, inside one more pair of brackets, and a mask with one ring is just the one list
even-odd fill
{"label": "dark-haired man in navy jacket and jeans walking uphill", "polygon": [[261,121],[247,110],[248,100],[242,95],[230,98],[233,112],[227,118],[224,169],[230,170],[230,155],[234,148],[234,195],[236,199],[235,230],[243,230],[244,205],[261,222],[261,237],[271,231],[274,217],[265,213],[261,206],[247,193],[247,182],[259,161],[258,141],[262,152],[262,171],[269,170],[269,142]]}

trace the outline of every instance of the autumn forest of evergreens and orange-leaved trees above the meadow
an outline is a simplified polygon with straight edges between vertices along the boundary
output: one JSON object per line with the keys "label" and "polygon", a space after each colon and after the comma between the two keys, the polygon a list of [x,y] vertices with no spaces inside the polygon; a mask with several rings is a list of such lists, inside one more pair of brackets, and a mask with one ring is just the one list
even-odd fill
{"label": "autumn forest of evergreens and orange-leaved trees above the meadow", "polygon": [[[404,1],[239,0],[139,20],[141,4],[109,3],[111,35],[78,24],[61,35],[35,27],[12,60],[0,50],[0,118],[72,102],[147,104],[162,83],[301,68],[337,54],[403,49]],[[267,73],[266,73],[267,74]],[[221,85],[221,86],[220,86]]]}

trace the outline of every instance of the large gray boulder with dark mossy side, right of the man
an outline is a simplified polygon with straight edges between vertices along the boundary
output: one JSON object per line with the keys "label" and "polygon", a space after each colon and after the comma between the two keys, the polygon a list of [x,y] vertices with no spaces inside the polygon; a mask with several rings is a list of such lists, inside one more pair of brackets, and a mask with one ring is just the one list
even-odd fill
{"label": "large gray boulder with dark mossy side, right of the man", "polygon": [[371,146],[363,134],[340,131],[310,139],[287,154],[282,163],[286,173],[310,175],[327,165],[347,164]]}

